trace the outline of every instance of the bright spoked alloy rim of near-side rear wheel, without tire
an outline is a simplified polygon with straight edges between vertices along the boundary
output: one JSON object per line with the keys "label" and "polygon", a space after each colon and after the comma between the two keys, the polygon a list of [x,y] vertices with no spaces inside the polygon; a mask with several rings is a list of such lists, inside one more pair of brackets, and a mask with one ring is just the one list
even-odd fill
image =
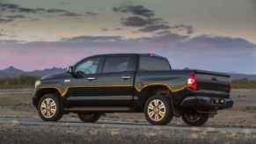
{"label": "bright spoked alloy rim of near-side rear wheel, without tire", "polygon": [[148,106],[148,115],[154,121],[160,121],[165,118],[166,108],[163,101],[154,99]]}

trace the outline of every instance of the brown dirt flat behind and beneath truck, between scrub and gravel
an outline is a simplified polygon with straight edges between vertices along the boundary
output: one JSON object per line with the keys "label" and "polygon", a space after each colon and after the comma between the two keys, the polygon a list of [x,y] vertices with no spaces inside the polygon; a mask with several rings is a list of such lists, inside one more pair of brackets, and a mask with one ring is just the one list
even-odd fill
{"label": "brown dirt flat behind and beneath truck, between scrub and gravel", "polygon": [[[0,90],[0,117],[38,117],[32,106],[32,92],[31,89]],[[232,90],[231,98],[234,100],[233,108],[218,112],[205,126],[256,126],[256,89]],[[76,118],[77,115],[69,114],[65,117]],[[146,122],[143,113],[106,114],[102,119]],[[170,125],[185,126],[179,118],[174,118]]]}

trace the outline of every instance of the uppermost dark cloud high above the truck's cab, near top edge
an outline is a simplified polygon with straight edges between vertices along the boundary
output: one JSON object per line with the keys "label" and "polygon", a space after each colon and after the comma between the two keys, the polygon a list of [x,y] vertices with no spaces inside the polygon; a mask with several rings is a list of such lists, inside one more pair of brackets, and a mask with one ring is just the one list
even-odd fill
{"label": "uppermost dark cloud high above the truck's cab, near top edge", "polygon": [[155,11],[145,8],[143,5],[123,4],[119,7],[113,7],[113,11],[122,12],[122,13],[131,13],[133,15],[142,16],[146,18],[155,16]]}

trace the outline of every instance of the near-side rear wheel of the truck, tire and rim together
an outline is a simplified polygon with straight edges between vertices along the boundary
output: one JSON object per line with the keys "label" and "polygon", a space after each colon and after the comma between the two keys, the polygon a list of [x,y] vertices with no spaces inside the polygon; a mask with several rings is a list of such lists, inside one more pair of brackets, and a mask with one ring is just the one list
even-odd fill
{"label": "near-side rear wheel of the truck, tire and rim together", "polygon": [[168,124],[173,116],[169,97],[158,94],[150,97],[144,106],[144,114],[152,125]]}

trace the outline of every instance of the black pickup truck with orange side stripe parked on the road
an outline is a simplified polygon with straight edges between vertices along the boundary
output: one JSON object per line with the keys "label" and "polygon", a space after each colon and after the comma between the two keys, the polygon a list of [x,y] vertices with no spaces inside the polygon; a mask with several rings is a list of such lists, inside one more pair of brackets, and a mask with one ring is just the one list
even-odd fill
{"label": "black pickup truck with orange side stripe parked on the road", "polygon": [[66,73],[42,77],[35,83],[33,105],[46,121],[69,112],[84,122],[108,112],[144,112],[153,125],[166,125],[175,116],[201,126],[233,101],[226,74],[174,70],[157,54],[100,54]]}

